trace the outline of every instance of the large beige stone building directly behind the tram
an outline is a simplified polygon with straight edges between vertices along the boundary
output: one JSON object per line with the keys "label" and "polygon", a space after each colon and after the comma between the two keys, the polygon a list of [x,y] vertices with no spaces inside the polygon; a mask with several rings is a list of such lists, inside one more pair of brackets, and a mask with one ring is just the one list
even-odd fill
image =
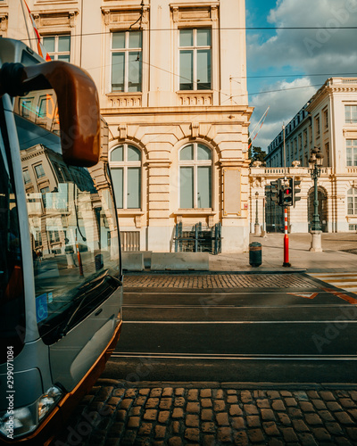
{"label": "large beige stone building directly behind the tram", "polygon": [[[176,225],[200,223],[221,225],[222,252],[246,250],[245,1],[28,4],[51,57],[95,79],[108,123],[102,158],[130,249],[174,251]],[[0,20],[3,37],[29,43],[21,0],[0,2]]]}

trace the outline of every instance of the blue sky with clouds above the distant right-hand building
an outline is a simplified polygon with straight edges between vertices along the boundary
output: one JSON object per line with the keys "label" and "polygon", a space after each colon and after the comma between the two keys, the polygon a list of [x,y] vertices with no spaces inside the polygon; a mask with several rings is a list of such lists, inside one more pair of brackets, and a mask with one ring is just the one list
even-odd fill
{"label": "blue sky with clouds above the distant right-hand building", "polygon": [[357,0],[245,0],[245,10],[250,132],[270,106],[253,141],[267,151],[328,78],[357,77]]}

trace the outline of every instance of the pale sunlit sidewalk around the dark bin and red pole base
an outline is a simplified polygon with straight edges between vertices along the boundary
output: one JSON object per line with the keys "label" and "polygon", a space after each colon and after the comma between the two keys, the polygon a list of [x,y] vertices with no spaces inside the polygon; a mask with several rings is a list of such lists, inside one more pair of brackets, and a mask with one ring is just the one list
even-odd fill
{"label": "pale sunlit sidewalk around the dark bin and red pole base", "polygon": [[[309,272],[357,271],[357,234],[323,234],[323,252],[310,252],[310,234],[289,234],[289,262],[291,268],[283,268],[284,234],[268,234],[266,237],[251,235],[250,243],[262,244],[262,265],[253,268],[249,264],[249,252],[243,254],[219,254],[210,256],[210,271],[284,271],[306,269]],[[342,250],[356,250],[356,254]]]}

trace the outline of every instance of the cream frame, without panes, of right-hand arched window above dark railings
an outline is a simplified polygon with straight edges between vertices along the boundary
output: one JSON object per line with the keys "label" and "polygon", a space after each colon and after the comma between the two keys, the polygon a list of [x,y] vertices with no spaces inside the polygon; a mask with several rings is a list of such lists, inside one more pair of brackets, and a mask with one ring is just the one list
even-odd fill
{"label": "cream frame, without panes, of right-hand arched window above dark railings", "polygon": [[[194,149],[194,157],[193,160],[180,160],[180,153],[182,152],[182,150],[184,150],[187,146],[189,145],[193,145]],[[210,160],[198,160],[197,159],[197,147],[198,145],[202,145],[205,149],[209,150],[211,153],[211,158]],[[179,148],[179,210],[200,210],[200,211],[204,211],[204,210],[210,210],[212,211],[213,209],[213,151],[212,148],[209,147],[208,145],[204,145],[200,142],[190,142],[187,143],[186,145],[182,145],[182,147]],[[185,167],[191,167],[193,168],[194,174],[193,174],[193,207],[191,208],[183,208],[181,207],[181,168],[185,168]],[[210,206],[209,207],[198,207],[197,202],[198,202],[198,168],[199,167],[210,167],[211,168],[211,191],[210,191]]]}

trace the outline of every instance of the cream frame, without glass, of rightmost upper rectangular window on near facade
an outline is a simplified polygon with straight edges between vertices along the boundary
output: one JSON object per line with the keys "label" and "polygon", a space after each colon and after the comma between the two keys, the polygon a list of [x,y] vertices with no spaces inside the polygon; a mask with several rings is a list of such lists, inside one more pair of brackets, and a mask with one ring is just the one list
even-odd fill
{"label": "cream frame, without glass, of rightmost upper rectangular window on near facade", "polygon": [[[197,30],[199,29],[208,29],[210,31],[210,45],[197,45]],[[193,31],[193,45],[188,46],[188,45],[180,45],[180,33],[181,31],[185,31],[185,30],[192,30]],[[179,28],[179,33],[178,33],[178,48],[179,48],[179,91],[212,91],[212,37],[213,37],[213,32],[212,32],[212,26],[202,26],[202,27],[195,27],[195,28],[188,28],[188,27],[182,27]],[[210,70],[210,88],[199,88],[199,79],[197,78],[197,66],[198,66],[198,61],[197,61],[197,53],[200,50],[209,50],[210,52],[210,62],[211,62],[211,70]],[[188,84],[188,82],[181,82],[181,51],[192,51],[193,52],[193,72],[192,72],[192,88],[191,89],[187,89],[187,88],[181,88],[182,84]],[[188,80],[188,79],[187,79]]]}

